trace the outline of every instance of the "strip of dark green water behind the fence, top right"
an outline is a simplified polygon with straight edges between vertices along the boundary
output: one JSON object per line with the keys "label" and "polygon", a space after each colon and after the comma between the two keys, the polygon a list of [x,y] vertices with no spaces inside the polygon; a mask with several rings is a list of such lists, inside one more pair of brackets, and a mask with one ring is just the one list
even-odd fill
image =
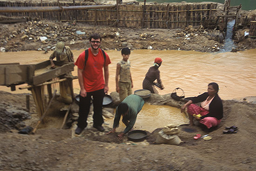
{"label": "strip of dark green water behind the fence, top right", "polygon": [[[138,0],[138,1],[144,1],[144,0]],[[163,3],[163,2],[218,2],[218,3],[225,3],[225,0],[147,0],[147,2],[158,2],[158,3]],[[254,10],[256,9],[256,0],[231,0],[230,1],[230,6],[239,6],[242,4],[242,10]]]}

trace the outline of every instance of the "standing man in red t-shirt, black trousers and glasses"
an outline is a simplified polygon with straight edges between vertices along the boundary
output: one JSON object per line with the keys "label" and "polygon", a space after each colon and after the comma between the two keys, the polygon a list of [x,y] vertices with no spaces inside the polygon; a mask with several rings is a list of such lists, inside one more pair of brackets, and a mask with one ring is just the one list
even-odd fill
{"label": "standing man in red t-shirt, black trousers and glasses", "polygon": [[[99,34],[92,34],[89,42],[91,48],[88,49],[86,64],[85,51],[79,55],[75,62],[75,65],[78,67],[77,75],[81,88],[76,134],[81,134],[88,125],[87,118],[90,112],[91,96],[93,96],[94,105],[93,127],[101,132],[104,131],[104,128],[101,126],[104,123],[102,118],[102,102],[105,93],[108,93],[108,65],[111,61],[107,53],[105,53],[106,59],[104,59],[104,52],[100,49],[101,36]],[[102,68],[104,68],[104,78]]]}

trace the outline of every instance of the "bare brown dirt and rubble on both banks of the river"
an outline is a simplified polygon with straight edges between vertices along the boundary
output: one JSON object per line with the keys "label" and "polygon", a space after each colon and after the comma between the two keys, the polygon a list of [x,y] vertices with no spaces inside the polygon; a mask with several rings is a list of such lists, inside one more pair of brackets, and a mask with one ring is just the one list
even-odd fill
{"label": "bare brown dirt and rubble on both banks of the river", "polygon": [[[85,34],[78,35],[76,31]],[[223,46],[220,37],[216,37],[221,34],[218,30],[201,27],[128,29],[31,20],[26,23],[0,24],[0,47],[4,48],[1,48],[1,51],[48,52],[61,40],[72,49],[81,49],[88,47],[86,42],[94,32],[102,35],[104,49],[152,47],[159,50],[212,52],[216,47]],[[40,41],[40,36],[45,33],[51,36],[44,42]],[[190,39],[186,39],[188,34]],[[243,35],[242,29],[240,34]],[[239,42],[241,50],[256,48],[254,39],[241,36]],[[34,135],[19,134],[18,131],[22,127],[35,126],[39,119],[31,95],[30,111],[27,111],[26,95],[0,92],[0,171],[256,170],[256,104],[224,100],[224,117],[217,128],[207,130],[198,124],[181,125],[178,127],[178,136],[182,140],[180,145],[155,145],[161,128],[148,132],[147,138],[142,142],[128,141],[127,137],[120,141],[116,134],[105,135],[111,125],[104,124],[106,131],[102,133],[92,128],[90,121],[81,136],[75,136],[75,125],[68,129],[59,129],[63,115],[58,112],[47,116],[46,123],[41,124]],[[77,110],[77,107],[74,108]],[[21,114],[10,114],[13,110],[18,110]],[[222,133],[226,126],[232,125],[239,128],[237,133]],[[209,134],[212,139],[194,140],[193,137],[198,133]]]}

